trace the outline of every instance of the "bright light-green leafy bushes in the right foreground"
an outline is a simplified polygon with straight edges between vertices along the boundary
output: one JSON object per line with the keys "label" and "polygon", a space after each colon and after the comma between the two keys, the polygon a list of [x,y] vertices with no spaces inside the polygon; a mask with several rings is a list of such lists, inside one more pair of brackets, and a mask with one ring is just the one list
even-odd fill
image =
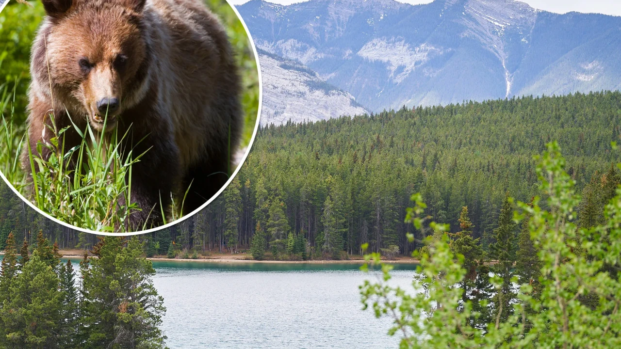
{"label": "bright light-green leafy bushes in the right foreground", "polygon": [[[515,260],[512,244],[504,242],[505,231],[514,224],[505,219],[507,210],[502,210],[495,232],[493,250],[499,261],[493,274],[479,264],[473,277],[473,260],[463,248],[455,248],[460,245],[455,237],[444,233],[448,225],[432,222],[435,236],[427,240],[413,288],[390,286],[391,267],[383,265],[384,278],[360,288],[365,307],[371,306],[378,317],[392,317],[389,333],[401,335],[401,348],[619,347],[621,280],[615,270],[621,264],[621,180],[614,169],[602,177],[597,188],[608,195],[592,207],[602,219],[584,227],[578,222],[587,212],[576,215],[584,198],[565,170],[558,143],[550,143],[537,166],[548,209],[535,197],[532,204],[519,202],[521,213],[509,219],[524,222],[515,270],[506,268]],[[426,205],[420,195],[413,199],[409,222],[421,227]],[[526,232],[530,242],[525,241]],[[367,258],[379,263],[378,253]],[[465,293],[477,297],[465,298]]]}

